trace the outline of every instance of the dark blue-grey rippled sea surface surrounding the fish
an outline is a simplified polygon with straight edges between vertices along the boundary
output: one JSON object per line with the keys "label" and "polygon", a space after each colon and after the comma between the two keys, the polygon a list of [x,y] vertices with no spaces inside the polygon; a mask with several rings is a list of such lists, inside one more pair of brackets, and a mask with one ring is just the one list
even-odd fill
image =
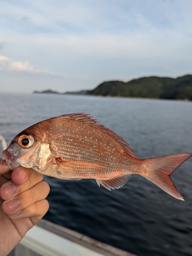
{"label": "dark blue-grey rippled sea surface surrounding the fish", "polygon": [[[139,158],[192,152],[192,102],[72,95],[0,94],[0,134],[7,143],[26,127],[67,113],[92,114]],[[132,175],[109,191],[95,180],[50,184],[45,219],[139,256],[192,255],[192,159],[172,175],[185,201]]]}

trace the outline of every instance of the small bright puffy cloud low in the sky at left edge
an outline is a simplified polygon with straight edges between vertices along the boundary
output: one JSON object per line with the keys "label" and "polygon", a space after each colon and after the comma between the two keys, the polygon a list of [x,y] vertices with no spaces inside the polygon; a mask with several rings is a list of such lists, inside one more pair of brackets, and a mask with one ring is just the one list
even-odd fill
{"label": "small bright puffy cloud low in the sky at left edge", "polygon": [[32,74],[52,75],[52,76],[64,76],[66,74],[51,72],[46,69],[35,69],[28,61],[13,61],[6,56],[0,56],[0,71],[6,72],[26,72]]}

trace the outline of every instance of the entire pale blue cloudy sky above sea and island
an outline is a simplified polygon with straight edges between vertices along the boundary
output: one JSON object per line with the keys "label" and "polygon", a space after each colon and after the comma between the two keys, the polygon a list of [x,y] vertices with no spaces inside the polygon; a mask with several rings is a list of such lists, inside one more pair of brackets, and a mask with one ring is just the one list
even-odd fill
{"label": "entire pale blue cloudy sky above sea and island", "polygon": [[0,2],[0,92],[192,74],[191,0]]}

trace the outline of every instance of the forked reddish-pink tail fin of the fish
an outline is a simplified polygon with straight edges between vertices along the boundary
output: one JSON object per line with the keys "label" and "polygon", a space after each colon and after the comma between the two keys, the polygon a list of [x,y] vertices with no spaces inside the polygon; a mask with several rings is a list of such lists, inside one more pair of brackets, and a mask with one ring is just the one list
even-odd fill
{"label": "forked reddish-pink tail fin of the fish", "polygon": [[146,166],[150,167],[151,165],[151,171],[148,176],[143,177],[155,183],[169,195],[184,201],[170,175],[191,156],[192,154],[189,153],[181,153],[145,159]]}

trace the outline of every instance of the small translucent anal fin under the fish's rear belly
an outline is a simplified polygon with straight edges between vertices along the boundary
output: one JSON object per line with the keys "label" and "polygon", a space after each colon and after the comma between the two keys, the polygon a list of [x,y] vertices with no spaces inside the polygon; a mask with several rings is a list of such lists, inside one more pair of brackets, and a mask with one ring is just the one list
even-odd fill
{"label": "small translucent anal fin under the fish's rear belly", "polygon": [[119,176],[110,180],[96,180],[97,184],[100,186],[103,185],[106,189],[111,190],[115,189],[115,188],[120,188],[122,187],[131,177],[131,174],[129,175],[123,175],[123,176]]}

